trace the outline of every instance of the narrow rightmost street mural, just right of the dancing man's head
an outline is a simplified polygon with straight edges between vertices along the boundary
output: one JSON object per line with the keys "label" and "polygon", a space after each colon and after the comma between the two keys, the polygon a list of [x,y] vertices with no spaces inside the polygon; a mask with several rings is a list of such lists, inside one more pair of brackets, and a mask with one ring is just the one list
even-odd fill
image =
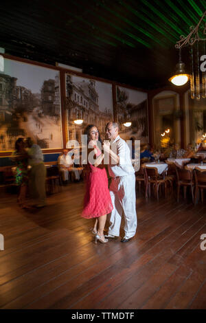
{"label": "narrow rightmost street mural, just right of the dancing man's head", "polygon": [[[121,127],[120,135],[124,140],[140,140],[148,143],[148,104],[147,93],[116,87],[117,122]],[[131,122],[131,126],[124,123]]]}

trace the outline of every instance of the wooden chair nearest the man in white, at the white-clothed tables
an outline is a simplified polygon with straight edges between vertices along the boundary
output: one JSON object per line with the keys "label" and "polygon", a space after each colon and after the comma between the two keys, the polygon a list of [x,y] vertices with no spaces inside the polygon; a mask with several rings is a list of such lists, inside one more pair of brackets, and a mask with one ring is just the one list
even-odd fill
{"label": "wooden chair nearest the man in white, at the white-clothed tables", "polygon": [[161,177],[161,175],[158,174],[156,167],[145,167],[144,168],[145,177],[146,177],[146,193],[145,196],[150,197],[150,184],[153,185],[153,188],[155,190],[155,194],[157,197],[157,201],[159,201],[159,186],[163,185],[165,190],[165,197],[167,196],[167,183],[168,179],[167,177]]}

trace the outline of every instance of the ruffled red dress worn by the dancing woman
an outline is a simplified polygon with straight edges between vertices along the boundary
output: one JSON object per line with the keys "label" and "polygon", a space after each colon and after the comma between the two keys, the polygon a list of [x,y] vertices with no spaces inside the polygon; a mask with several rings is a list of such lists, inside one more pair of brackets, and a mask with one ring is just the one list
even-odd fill
{"label": "ruffled red dress worn by the dancing woman", "polygon": [[[93,146],[93,148],[98,150],[97,157],[100,156],[100,149],[97,146]],[[108,190],[105,168],[88,164],[88,170],[82,217],[92,219],[110,213],[113,210],[113,204]]]}

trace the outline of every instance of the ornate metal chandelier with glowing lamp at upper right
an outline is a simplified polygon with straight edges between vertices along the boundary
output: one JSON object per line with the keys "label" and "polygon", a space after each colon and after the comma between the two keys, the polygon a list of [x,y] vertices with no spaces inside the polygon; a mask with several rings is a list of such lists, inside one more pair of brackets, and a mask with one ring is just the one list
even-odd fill
{"label": "ornate metal chandelier with glowing lamp at upper right", "polygon": [[[179,84],[175,85],[183,85],[190,78],[190,91],[191,98],[196,100],[201,100],[201,98],[206,98],[206,53],[205,53],[205,35],[206,35],[206,23],[205,25],[201,25],[204,17],[206,15],[206,11],[201,16],[201,19],[198,21],[196,27],[190,27],[190,34],[186,37],[181,35],[180,41],[176,42],[176,49],[179,49],[179,63],[176,65],[176,75],[181,76],[181,78],[185,80]],[[203,36],[200,36],[202,34]],[[185,74],[184,63],[181,61],[181,48],[186,47],[189,49],[190,54],[190,75]],[[205,61],[205,62],[204,62]],[[171,82],[174,80],[174,76],[169,79]]]}

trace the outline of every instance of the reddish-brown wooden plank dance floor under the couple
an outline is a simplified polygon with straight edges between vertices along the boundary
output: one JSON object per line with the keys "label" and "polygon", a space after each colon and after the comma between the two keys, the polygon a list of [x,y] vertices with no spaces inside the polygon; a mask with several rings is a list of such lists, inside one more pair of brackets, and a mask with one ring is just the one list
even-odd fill
{"label": "reddish-brown wooden plank dance floor under the couple", "polygon": [[206,309],[205,203],[137,193],[135,238],[95,245],[83,196],[71,183],[27,211],[1,193],[1,309]]}

